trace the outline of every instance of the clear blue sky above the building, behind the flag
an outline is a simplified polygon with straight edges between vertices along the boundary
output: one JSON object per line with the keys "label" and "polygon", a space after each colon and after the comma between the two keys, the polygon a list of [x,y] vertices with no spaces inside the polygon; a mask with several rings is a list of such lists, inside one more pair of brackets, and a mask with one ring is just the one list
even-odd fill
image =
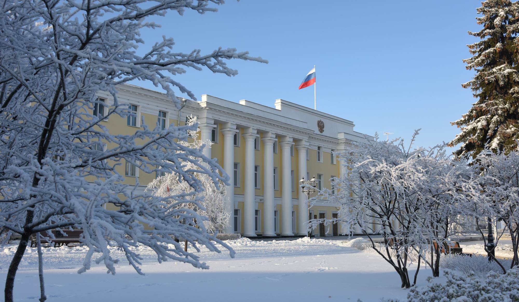
{"label": "clear blue sky above the building, behind the flag", "polygon": [[476,41],[467,31],[480,29],[479,6],[461,0],[227,0],[204,15],[170,12],[153,20],[161,28],[141,34],[150,45],[162,35],[173,37],[174,51],[235,47],[269,60],[228,61],[239,71],[234,77],[207,70],[175,77],[198,98],[210,94],[267,106],[282,98],[313,108],[313,87],[297,88],[317,65],[318,110],[370,135],[387,131],[408,141],[422,128],[417,146],[427,147],[454,138],[459,129],[449,122],[475,101],[461,87],[473,76],[462,59],[470,57],[466,45]]}

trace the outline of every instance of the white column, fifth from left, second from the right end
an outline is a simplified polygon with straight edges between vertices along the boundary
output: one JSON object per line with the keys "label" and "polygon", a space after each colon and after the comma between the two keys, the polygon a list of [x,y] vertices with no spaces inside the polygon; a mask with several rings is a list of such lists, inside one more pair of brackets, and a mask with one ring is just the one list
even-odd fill
{"label": "white column, fifth from left, second from the right end", "polygon": [[282,186],[281,186],[281,235],[293,236],[292,232],[292,159],[290,147],[294,145],[291,138],[279,143],[282,156]]}

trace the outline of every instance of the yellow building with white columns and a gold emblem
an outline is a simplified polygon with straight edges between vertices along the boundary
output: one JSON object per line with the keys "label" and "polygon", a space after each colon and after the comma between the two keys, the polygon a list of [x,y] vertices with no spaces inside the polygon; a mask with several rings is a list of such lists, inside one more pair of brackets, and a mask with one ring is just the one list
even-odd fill
{"label": "yellow building with white columns and a gold emblem", "polygon": [[[177,110],[165,94],[133,85],[118,87],[119,102],[130,103],[135,119],[119,116],[103,121],[112,134],[132,134],[141,127],[141,117],[152,127],[184,125],[187,116],[197,116],[200,138],[211,140],[206,155],[216,158],[230,177],[226,207],[231,214],[228,233],[247,237],[306,235],[308,203],[301,192],[301,178],[319,179],[319,187],[330,188],[330,178],[344,173],[334,151],[345,150],[351,141],[364,135],[353,130],[351,121],[277,99],[274,108],[248,100],[239,103],[202,95],[201,101],[185,100]],[[109,94],[99,93],[106,106],[113,102]],[[107,107],[96,108],[104,111]],[[103,112],[99,112],[103,113]],[[180,116],[180,118],[179,118]],[[125,182],[139,182],[146,188],[155,174],[135,167],[118,166]],[[337,207],[317,202],[311,218],[332,218]],[[320,226],[317,236],[337,235],[340,226]]]}

